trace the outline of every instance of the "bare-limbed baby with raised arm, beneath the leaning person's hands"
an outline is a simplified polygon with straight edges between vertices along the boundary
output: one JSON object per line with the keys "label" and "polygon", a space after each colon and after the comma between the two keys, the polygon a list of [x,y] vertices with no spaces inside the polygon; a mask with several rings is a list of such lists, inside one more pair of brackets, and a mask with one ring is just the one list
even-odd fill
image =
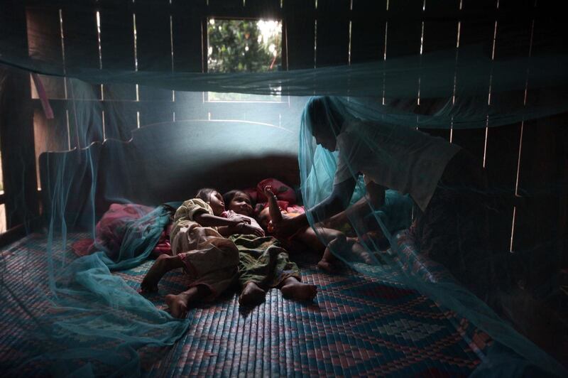
{"label": "bare-limbed baby with raised arm, beneath the leaning person's hands", "polygon": [[[264,195],[268,198],[268,206],[258,214],[258,222],[267,232],[272,233],[274,232],[273,223],[282,220],[283,213],[287,214],[289,217],[294,215],[285,212],[285,210],[280,210],[280,207],[278,207],[278,198],[276,198],[276,195],[273,193],[271,185],[267,185],[264,188]],[[323,239],[324,243],[320,241],[320,237]],[[361,257],[364,261],[369,258],[368,252],[366,252],[363,245],[357,242],[356,238],[346,237],[343,232],[337,231],[337,229],[317,227],[316,234],[312,227],[305,227],[295,232],[291,237],[288,237],[288,241],[299,241],[315,249],[317,252],[323,252],[322,259],[317,263],[317,266],[329,273],[335,270],[334,263],[336,259],[332,254],[332,250],[350,251],[356,256]]]}

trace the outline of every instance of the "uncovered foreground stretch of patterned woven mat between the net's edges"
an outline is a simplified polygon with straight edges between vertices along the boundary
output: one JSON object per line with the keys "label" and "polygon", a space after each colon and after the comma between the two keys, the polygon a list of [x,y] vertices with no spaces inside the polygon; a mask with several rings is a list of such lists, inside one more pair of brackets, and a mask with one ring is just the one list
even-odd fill
{"label": "uncovered foreground stretch of patterned woven mat between the net's edges", "polygon": [[[352,271],[324,274],[316,261],[299,261],[302,281],[318,286],[313,303],[287,300],[278,289],[256,308],[239,306],[236,291],[202,303],[151,374],[459,377],[479,364],[488,338],[466,320],[401,286]],[[137,288],[150,265],[119,274]],[[147,298],[166,309],[163,297],[187,283],[181,271],[170,272]]]}

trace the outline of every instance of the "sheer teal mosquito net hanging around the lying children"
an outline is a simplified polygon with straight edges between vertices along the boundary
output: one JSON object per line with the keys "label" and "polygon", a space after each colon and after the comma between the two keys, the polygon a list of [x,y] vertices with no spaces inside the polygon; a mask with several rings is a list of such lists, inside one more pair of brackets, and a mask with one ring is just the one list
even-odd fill
{"label": "sheer teal mosquito net hanging around the lying children", "polygon": [[[70,11],[77,14],[92,11],[92,5],[89,4],[71,4],[72,1],[60,3],[64,9],[70,7]],[[121,9],[109,2],[103,3],[100,5],[103,18],[105,11],[112,13]],[[144,9],[145,5],[137,6]],[[151,10],[151,5],[145,9],[146,12]],[[515,13],[511,15],[512,18],[514,16]],[[2,17],[7,17],[6,12],[2,13]],[[109,36],[119,33],[122,25],[119,21],[107,20],[105,27],[104,33]],[[474,31],[476,28],[481,30],[481,26],[476,24],[472,28]],[[0,112],[10,117],[25,118],[21,114],[16,115],[20,110],[9,107],[11,98],[20,93],[18,91],[25,93],[21,83],[26,83],[29,73],[40,74],[40,80],[34,79],[33,86],[40,99],[45,99],[41,93],[45,92],[45,85],[50,90],[50,80],[65,77],[65,99],[69,107],[52,102],[53,109],[50,109],[49,104],[45,104],[38,117],[50,119],[48,113],[55,111],[55,118],[59,117],[64,124],[67,121],[70,126],[66,131],[65,127],[48,121],[50,142],[43,151],[76,148],[74,153],[52,153],[38,161],[50,172],[41,178],[41,182],[47,185],[42,188],[42,198],[48,198],[49,202],[43,203],[40,225],[48,237],[45,261],[49,269],[48,276],[42,279],[49,281],[49,308],[21,305],[11,309],[26,316],[41,330],[41,333],[30,336],[38,340],[42,352],[23,363],[47,362],[49,369],[46,372],[52,374],[140,374],[141,357],[138,351],[141,347],[173,345],[187,332],[191,319],[172,318],[133,291],[119,276],[111,274],[114,269],[130,269],[148,257],[169,219],[170,213],[166,207],[160,206],[162,203],[191,197],[193,193],[187,193],[187,198],[168,198],[170,192],[165,189],[175,186],[179,190],[191,180],[186,177],[185,164],[190,164],[194,173],[207,175],[207,172],[200,171],[204,161],[209,166],[215,166],[240,156],[262,158],[270,153],[297,153],[302,200],[305,207],[310,209],[332,193],[339,156],[338,151],[327,151],[316,144],[313,131],[320,124],[328,127],[336,138],[346,124],[366,125],[349,129],[349,144],[359,144],[361,151],[371,151],[371,160],[380,156],[381,161],[398,166],[396,159],[400,156],[420,153],[408,139],[415,132],[459,134],[459,131],[473,131],[478,133],[476,135],[479,132],[487,135],[500,126],[528,124],[558,116],[568,110],[568,55],[564,50],[551,49],[550,41],[546,38],[534,41],[527,39],[532,50],[527,49],[523,55],[502,59],[495,58],[487,51],[485,41],[480,36],[479,39],[471,38],[468,43],[462,43],[459,48],[444,48],[366,63],[275,72],[195,73],[163,68],[165,58],[158,55],[148,60],[148,69],[138,70],[113,64],[117,63],[111,61],[113,55],[124,55],[121,50],[126,46],[121,45],[120,41],[109,44],[111,48],[106,50],[104,62],[101,60],[101,65],[96,67],[93,67],[91,57],[82,55],[81,49],[73,53],[67,48],[63,71],[57,61],[34,52],[33,48],[21,53],[18,31],[1,25],[0,30]],[[34,24],[28,24],[27,33],[31,40],[49,40],[45,31],[39,26],[35,28]],[[476,36],[476,33],[472,33],[472,36]],[[81,33],[68,36],[78,41],[89,41],[92,37]],[[518,43],[518,38],[515,33],[506,34],[499,43]],[[80,45],[76,40],[72,43]],[[53,46],[54,49],[56,47]],[[138,90],[143,97],[142,105],[139,104]],[[136,108],[119,101],[127,92],[127,97],[132,97],[131,102],[138,103]],[[136,95],[133,95],[134,92]],[[207,92],[238,92],[280,96],[282,99],[280,105],[247,104],[246,114],[239,118],[243,122],[231,127],[230,123],[218,124],[215,121],[231,120],[240,111],[234,110],[232,104],[226,104],[226,107],[224,104],[215,104],[211,105],[215,106],[212,117],[211,112],[208,114],[204,110]],[[320,114],[325,114],[323,119],[317,119],[320,122],[318,125],[314,125],[314,119],[306,110],[306,104],[314,101],[307,97],[311,95],[326,96],[315,98],[324,107]],[[99,101],[101,96],[104,96],[104,103]],[[165,123],[160,121],[142,122],[141,127],[136,127],[137,121],[140,125],[140,120],[136,119],[140,114],[163,114],[163,101],[166,101],[166,97],[169,101],[171,96],[175,97],[176,102],[175,122],[168,129],[160,129]],[[416,106],[417,101],[419,104],[422,102],[422,108]],[[270,118],[273,106],[283,107],[280,110],[280,123]],[[22,112],[23,109],[26,108],[23,107]],[[148,119],[152,118],[148,116]],[[196,124],[195,120],[199,120],[199,123]],[[190,134],[180,139],[175,136],[178,131]],[[1,137],[3,144],[9,143],[4,134]],[[38,138],[38,134],[35,137]],[[131,143],[126,143],[129,140]],[[146,144],[136,144],[137,140],[146,141]],[[157,145],[151,151],[145,151],[143,146],[151,145],[152,141],[156,141]],[[25,153],[28,151],[26,148],[31,148],[25,143],[29,144],[30,141],[22,141],[21,151],[11,148],[12,155],[3,155],[2,158],[18,161],[18,153]],[[459,145],[459,140],[454,144]],[[392,146],[396,146],[396,155],[393,155]],[[164,152],[160,154],[159,151]],[[174,155],[182,161],[170,161],[169,156],[173,156],[171,151],[175,151]],[[480,168],[484,164],[481,160],[477,163]],[[393,205],[390,210],[377,206],[370,199],[370,193],[367,193],[359,167],[350,167],[349,164],[346,170],[351,172],[350,177],[358,184],[347,206],[351,225],[342,225],[342,231],[356,238],[364,249],[364,258],[351,249],[332,249],[336,257],[354,270],[373,278],[381,278],[394,270],[403,284],[469,319],[493,340],[521,357],[510,362],[509,374],[515,374],[516,367],[528,363],[550,374],[566,374],[565,368],[557,360],[519,331],[519,328],[530,328],[530,313],[546,298],[554,295],[554,289],[558,286],[558,271],[531,288],[530,294],[521,291],[518,281],[522,277],[519,277],[518,264],[510,251],[501,244],[489,245],[486,240],[486,243],[481,243],[483,245],[469,246],[473,255],[462,260],[465,266],[461,266],[461,270],[454,269],[454,260],[444,260],[441,264],[446,265],[446,273],[432,278],[431,274],[424,273],[423,268],[429,264],[435,266],[436,263],[430,259],[424,262],[420,260],[422,257],[418,263],[406,261],[404,251],[398,249],[397,243],[401,232],[417,232],[416,229],[408,231],[408,227],[413,220],[425,214],[426,209],[420,209],[416,203],[411,203],[410,207]],[[239,165],[232,168],[238,174]],[[422,167],[411,168],[417,171],[418,176],[430,172]],[[456,171],[459,173],[459,167]],[[465,172],[464,168],[462,173],[469,174]],[[12,209],[13,214],[17,214],[9,213],[7,217],[20,217],[21,223],[30,231],[37,229],[37,214],[33,204],[28,203],[26,180],[35,175],[29,166],[4,175],[5,181],[18,183],[10,189],[16,195],[6,193],[16,198]],[[222,183],[224,178],[211,178],[211,185],[215,185],[215,180]],[[543,183],[539,187],[539,195],[563,193],[567,183],[562,180]],[[453,200],[459,201],[464,193],[479,195],[477,200],[481,216],[474,222],[469,220],[476,227],[470,231],[489,239],[489,217],[503,217],[504,222],[510,222],[510,210],[515,205],[503,202],[503,195],[521,198],[523,192],[515,190],[514,183],[484,183],[481,185],[483,193],[481,187],[468,185],[452,188],[457,198]],[[393,201],[393,196],[405,193],[393,194],[388,191],[386,200]],[[101,199],[104,201],[101,202]],[[94,238],[97,221],[112,202],[143,203],[155,207],[155,210],[135,224],[128,225],[127,237],[114,259],[109,258],[105,251],[73,260],[60,259],[58,249],[65,246],[67,232],[81,229]],[[364,214],[349,212],[358,202],[364,204]],[[393,202],[389,203],[392,205]],[[388,211],[393,213],[386,214]],[[397,218],[400,214],[403,216],[399,218],[403,219]],[[310,224],[315,225],[317,220],[310,211],[307,217]],[[433,232],[443,233],[444,229],[435,229]],[[382,245],[376,242],[376,239],[368,236],[371,234],[382,234],[388,243]],[[527,243],[516,246],[516,249],[527,255],[534,250],[548,249],[550,254],[539,255],[539,261],[533,267],[555,266],[559,264],[557,260],[562,254],[560,249],[566,235],[552,234],[551,239],[550,246]],[[461,242],[469,243],[471,240],[456,240],[456,244]],[[13,296],[14,285],[18,283],[1,281],[0,296],[3,302]],[[529,299],[520,300],[520,296]],[[527,315],[523,316],[525,310]],[[511,318],[517,320],[515,325],[510,323]],[[565,322],[564,317],[562,326],[566,325]],[[486,367],[498,366],[498,362],[504,358],[498,354],[484,355],[479,374],[484,374]]]}

